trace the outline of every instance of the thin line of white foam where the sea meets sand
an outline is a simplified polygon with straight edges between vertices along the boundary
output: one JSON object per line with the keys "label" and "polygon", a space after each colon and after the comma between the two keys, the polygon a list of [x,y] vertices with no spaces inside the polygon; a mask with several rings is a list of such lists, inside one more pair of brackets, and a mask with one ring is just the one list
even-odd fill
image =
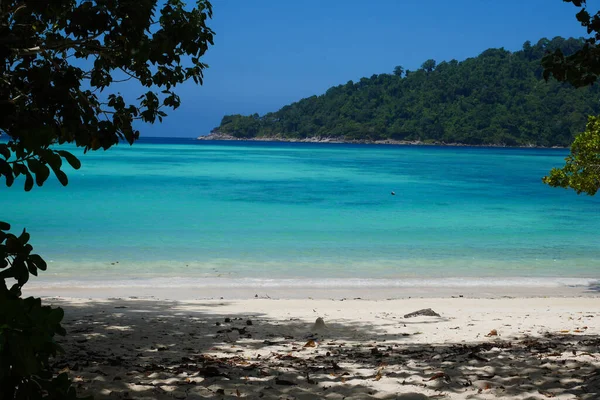
{"label": "thin line of white foam where the sea meets sand", "polygon": [[600,287],[598,278],[562,277],[456,277],[406,279],[257,279],[257,278],[185,278],[153,277],[140,279],[72,280],[39,279],[30,281],[28,288],[292,288],[292,289],[351,289],[351,288],[554,288]]}

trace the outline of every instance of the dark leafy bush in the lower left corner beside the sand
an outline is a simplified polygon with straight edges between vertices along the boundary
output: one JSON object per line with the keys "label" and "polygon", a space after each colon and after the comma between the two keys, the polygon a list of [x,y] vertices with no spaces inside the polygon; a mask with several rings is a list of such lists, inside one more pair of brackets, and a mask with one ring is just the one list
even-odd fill
{"label": "dark leafy bush in the lower left corner beside the sand", "polygon": [[46,262],[32,253],[26,231],[16,236],[9,229],[0,222],[0,400],[76,399],[67,374],[54,376],[49,364],[62,352],[54,337],[65,335],[63,310],[21,298],[23,285],[45,271]]}

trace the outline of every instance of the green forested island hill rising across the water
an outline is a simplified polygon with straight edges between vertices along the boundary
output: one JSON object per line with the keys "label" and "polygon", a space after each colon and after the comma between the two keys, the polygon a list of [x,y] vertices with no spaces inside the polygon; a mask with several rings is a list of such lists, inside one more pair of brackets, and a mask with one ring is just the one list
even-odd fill
{"label": "green forested island hill rising across the water", "polygon": [[416,71],[397,66],[264,116],[226,115],[199,139],[568,146],[600,113],[600,91],[546,82],[540,61],[583,43],[556,37],[460,62],[427,60]]}

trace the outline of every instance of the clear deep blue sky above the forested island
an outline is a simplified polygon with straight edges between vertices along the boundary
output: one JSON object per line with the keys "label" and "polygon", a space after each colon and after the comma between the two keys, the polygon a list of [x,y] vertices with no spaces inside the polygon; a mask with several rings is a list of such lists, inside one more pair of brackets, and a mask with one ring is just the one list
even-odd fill
{"label": "clear deep blue sky above the forested island", "polygon": [[[191,1],[191,0],[188,0]],[[596,0],[588,1],[596,11]],[[579,10],[561,0],[213,0],[204,84],[179,88],[182,106],[142,136],[197,137],[228,114],[263,115],[396,65],[414,70],[515,51],[542,37],[580,37]]]}

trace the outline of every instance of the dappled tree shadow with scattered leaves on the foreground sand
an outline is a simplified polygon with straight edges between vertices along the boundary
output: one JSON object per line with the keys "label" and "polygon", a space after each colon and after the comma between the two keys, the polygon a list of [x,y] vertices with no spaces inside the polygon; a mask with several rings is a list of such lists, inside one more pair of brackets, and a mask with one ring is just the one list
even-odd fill
{"label": "dappled tree shadow with scattered leaves on the foreground sand", "polygon": [[226,302],[50,302],[67,312],[55,367],[96,399],[600,398],[596,336],[418,344],[358,324],[314,334]]}

